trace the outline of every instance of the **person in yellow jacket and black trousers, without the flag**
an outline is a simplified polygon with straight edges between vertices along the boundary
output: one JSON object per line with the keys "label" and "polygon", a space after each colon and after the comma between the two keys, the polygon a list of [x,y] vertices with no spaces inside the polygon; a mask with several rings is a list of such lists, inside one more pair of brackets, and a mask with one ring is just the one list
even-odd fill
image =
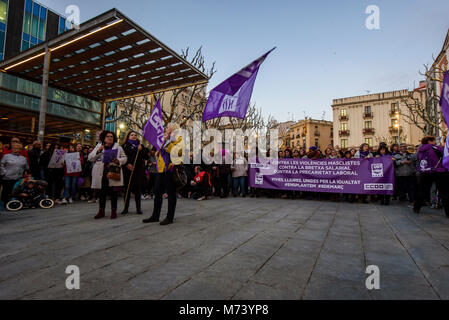
{"label": "person in yellow jacket and black trousers, without the flag", "polygon": [[157,176],[154,186],[154,209],[150,218],[143,220],[143,223],[159,222],[162,210],[162,194],[168,194],[167,217],[160,225],[172,224],[176,211],[176,186],[173,180],[174,166],[182,163],[184,150],[181,136],[176,137],[174,131],[179,128],[176,124],[169,124],[164,131],[164,143],[162,148],[156,153],[157,156]]}

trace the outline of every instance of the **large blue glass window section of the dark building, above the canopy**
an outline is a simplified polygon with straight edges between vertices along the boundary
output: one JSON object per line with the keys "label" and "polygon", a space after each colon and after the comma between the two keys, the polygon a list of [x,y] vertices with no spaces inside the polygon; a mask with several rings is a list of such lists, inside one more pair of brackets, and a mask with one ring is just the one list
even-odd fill
{"label": "large blue glass window section of the dark building, above the canopy", "polygon": [[47,8],[32,0],[25,0],[22,51],[45,41],[47,14]]}

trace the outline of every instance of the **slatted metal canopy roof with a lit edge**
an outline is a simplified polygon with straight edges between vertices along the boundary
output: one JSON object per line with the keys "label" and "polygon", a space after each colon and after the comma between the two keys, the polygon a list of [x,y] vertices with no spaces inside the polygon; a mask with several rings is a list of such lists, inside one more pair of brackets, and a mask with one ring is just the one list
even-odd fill
{"label": "slatted metal canopy roof with a lit edge", "polygon": [[51,52],[49,86],[97,101],[208,81],[204,73],[117,9],[3,61],[0,69],[42,81],[46,45]]}

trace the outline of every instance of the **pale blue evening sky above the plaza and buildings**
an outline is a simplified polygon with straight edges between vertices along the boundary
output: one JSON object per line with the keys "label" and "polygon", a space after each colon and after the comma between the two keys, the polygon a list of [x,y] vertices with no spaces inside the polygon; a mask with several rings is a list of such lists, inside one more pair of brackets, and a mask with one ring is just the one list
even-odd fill
{"label": "pale blue evening sky above the plaza and buildings", "polygon": [[[40,0],[81,22],[117,8],[176,52],[203,47],[211,90],[266,51],[252,103],[279,121],[332,120],[332,100],[413,89],[449,29],[449,1]],[[366,8],[379,8],[369,30]]]}

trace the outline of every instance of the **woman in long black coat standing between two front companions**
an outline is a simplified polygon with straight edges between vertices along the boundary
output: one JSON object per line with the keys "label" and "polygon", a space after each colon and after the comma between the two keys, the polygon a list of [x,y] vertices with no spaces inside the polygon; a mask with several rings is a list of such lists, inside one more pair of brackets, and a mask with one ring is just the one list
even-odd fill
{"label": "woman in long black coat standing between two front companions", "polygon": [[[134,193],[137,214],[142,214],[142,186],[145,183],[145,160],[148,160],[149,150],[140,144],[140,141],[137,139],[137,132],[135,131],[128,132],[122,148],[128,157],[128,162],[123,167],[123,176],[125,178],[125,208],[122,214],[128,213],[131,193]],[[138,156],[137,153],[139,154]]]}

